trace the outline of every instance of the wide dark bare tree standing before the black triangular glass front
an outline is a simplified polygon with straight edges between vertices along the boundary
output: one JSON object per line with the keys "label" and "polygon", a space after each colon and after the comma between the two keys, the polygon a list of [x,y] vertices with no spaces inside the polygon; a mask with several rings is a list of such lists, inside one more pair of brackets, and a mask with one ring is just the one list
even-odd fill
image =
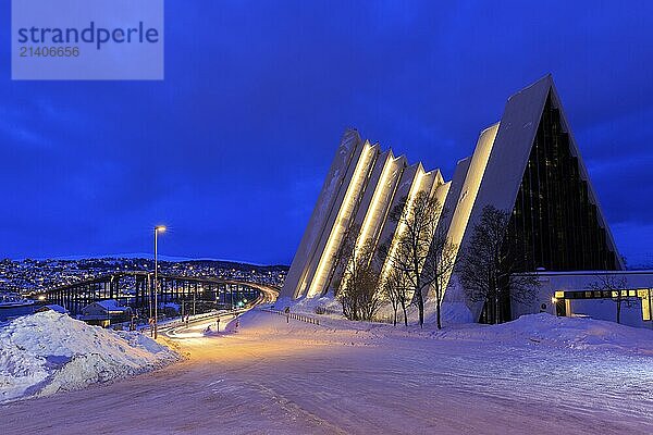
{"label": "wide dark bare tree standing before the black triangular glass front", "polygon": [[493,206],[483,208],[469,245],[461,252],[459,277],[472,302],[484,302],[489,323],[506,321],[510,301],[533,299],[538,278],[528,271],[527,253],[520,240],[508,240],[510,213]]}

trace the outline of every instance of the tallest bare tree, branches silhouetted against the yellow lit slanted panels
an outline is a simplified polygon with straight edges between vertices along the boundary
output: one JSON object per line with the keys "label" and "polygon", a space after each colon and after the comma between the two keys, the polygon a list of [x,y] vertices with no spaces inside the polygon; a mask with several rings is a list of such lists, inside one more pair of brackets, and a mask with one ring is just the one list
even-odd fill
{"label": "tallest bare tree, branches silhouetted against the yellow lit slanted panels", "polygon": [[[397,239],[390,245],[390,265],[404,277],[417,306],[419,324],[424,324],[423,290],[431,282],[422,278],[422,268],[429,257],[442,206],[438,198],[419,191],[411,201],[404,198],[390,213],[397,224]],[[392,240],[391,240],[392,244]]]}

